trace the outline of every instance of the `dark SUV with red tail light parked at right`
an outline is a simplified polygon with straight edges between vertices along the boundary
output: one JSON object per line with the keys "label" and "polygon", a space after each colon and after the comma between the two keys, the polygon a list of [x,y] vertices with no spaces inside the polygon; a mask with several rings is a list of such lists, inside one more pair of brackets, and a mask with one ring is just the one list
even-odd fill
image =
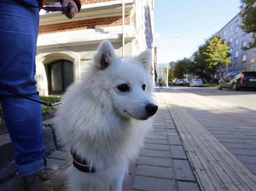
{"label": "dark SUV with red tail light parked at right", "polygon": [[218,89],[221,90],[222,88],[230,88],[232,90],[252,88],[256,91],[256,72],[230,72],[219,80]]}

